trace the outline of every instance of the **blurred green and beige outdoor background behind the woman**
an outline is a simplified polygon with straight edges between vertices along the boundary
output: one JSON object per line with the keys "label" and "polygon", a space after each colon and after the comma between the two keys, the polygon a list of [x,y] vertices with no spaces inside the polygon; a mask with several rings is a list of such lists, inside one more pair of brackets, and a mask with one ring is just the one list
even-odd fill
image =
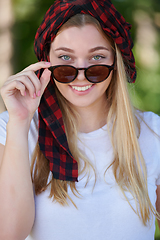
{"label": "blurred green and beige outdoor background behind the woman", "polygon": [[[6,50],[8,58],[5,64],[9,65],[8,74],[14,74],[37,61],[33,50],[34,36],[46,10],[53,2],[0,0],[0,86],[6,80],[3,60],[7,56],[4,53],[5,38],[2,37],[6,32],[4,22],[6,15],[2,7],[10,8],[11,19],[6,26],[11,47]],[[141,110],[153,111],[160,115],[160,0],[112,0],[112,2],[132,24],[131,34],[135,43],[133,52],[138,71],[136,83],[128,84],[133,104]],[[0,112],[2,110],[4,108],[0,108]],[[160,239],[158,229],[155,239]]]}

